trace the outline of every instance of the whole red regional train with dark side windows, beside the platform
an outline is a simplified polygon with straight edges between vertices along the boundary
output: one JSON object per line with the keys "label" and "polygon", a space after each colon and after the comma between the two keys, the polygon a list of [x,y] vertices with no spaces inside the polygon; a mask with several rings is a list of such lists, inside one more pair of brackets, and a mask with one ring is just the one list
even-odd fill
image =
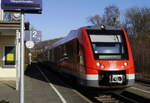
{"label": "whole red regional train with dark side windows, beside the platform", "polygon": [[128,87],[135,70],[127,33],[121,28],[87,26],[73,30],[47,49],[55,71],[87,87]]}

